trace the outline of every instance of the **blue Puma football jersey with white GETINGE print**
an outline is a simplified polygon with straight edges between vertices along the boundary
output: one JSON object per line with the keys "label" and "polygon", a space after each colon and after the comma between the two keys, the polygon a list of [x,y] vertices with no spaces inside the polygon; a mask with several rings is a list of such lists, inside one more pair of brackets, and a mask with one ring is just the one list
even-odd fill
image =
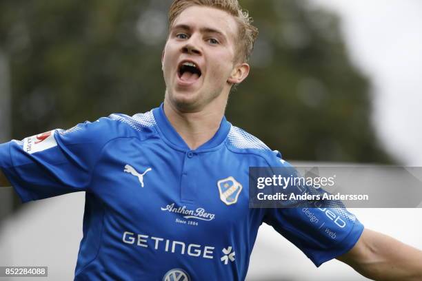
{"label": "blue Puma football jersey with white GETINGE print", "polygon": [[225,118],[191,150],[163,105],[0,145],[23,202],[86,191],[75,280],[244,280],[263,222],[316,266],[349,251],[363,225],[345,209],[249,208],[249,167],[285,166]]}

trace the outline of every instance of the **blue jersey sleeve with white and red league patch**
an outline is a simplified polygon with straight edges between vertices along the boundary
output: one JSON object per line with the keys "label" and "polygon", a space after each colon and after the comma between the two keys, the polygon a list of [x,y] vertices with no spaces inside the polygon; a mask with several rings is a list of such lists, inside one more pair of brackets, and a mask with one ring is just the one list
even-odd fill
{"label": "blue jersey sleeve with white and red league patch", "polygon": [[110,140],[110,119],[0,145],[0,168],[22,202],[86,191],[101,149]]}

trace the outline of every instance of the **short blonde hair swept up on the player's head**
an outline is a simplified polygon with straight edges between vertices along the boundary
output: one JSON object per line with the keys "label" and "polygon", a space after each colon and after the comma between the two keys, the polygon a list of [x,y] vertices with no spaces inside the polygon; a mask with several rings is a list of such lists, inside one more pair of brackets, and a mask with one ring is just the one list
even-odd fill
{"label": "short blonde hair swept up on the player's head", "polygon": [[174,0],[168,12],[168,23],[171,27],[174,20],[191,6],[206,6],[217,8],[231,14],[237,21],[239,34],[237,37],[237,60],[249,61],[254,48],[255,40],[258,37],[258,28],[252,25],[252,18],[248,11],[242,10],[237,0]]}

